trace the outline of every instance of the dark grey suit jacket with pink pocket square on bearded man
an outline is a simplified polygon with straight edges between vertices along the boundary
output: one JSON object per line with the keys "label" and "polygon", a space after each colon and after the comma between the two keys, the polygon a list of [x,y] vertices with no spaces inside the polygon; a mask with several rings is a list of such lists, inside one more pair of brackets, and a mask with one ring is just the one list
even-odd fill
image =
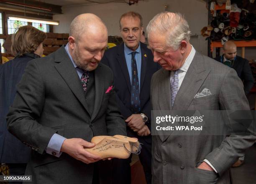
{"label": "dark grey suit jacket with pink pocket square on bearded man", "polygon": [[95,99],[88,101],[64,46],[28,63],[7,121],[8,130],[34,150],[26,169],[33,183],[92,183],[94,164],[65,153],[59,158],[45,153],[53,134],[86,141],[93,136],[126,134],[115,91],[105,93],[113,85],[112,71],[100,63],[94,76]]}

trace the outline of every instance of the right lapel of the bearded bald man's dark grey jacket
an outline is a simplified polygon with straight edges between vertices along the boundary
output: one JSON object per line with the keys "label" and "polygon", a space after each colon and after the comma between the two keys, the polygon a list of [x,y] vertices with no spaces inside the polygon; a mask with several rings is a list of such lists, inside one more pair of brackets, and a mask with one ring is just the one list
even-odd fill
{"label": "right lapel of the bearded bald man's dark grey jacket", "polygon": [[101,63],[95,70],[95,104],[92,112],[91,121],[97,116],[97,113],[102,104],[102,98],[104,95],[104,71],[102,70]]}

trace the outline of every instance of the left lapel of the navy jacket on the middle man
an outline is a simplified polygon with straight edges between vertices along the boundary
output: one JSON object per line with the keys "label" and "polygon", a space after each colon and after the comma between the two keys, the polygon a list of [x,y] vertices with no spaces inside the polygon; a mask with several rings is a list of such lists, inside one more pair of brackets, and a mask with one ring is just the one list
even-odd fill
{"label": "left lapel of the navy jacket on the middle man", "polygon": [[128,90],[131,93],[131,80],[130,80],[130,76],[129,76],[129,72],[128,72],[128,68],[127,68],[127,64],[126,64],[126,60],[125,60],[123,44],[118,46],[117,60],[120,65],[123,76],[125,78],[126,84],[128,86]]}

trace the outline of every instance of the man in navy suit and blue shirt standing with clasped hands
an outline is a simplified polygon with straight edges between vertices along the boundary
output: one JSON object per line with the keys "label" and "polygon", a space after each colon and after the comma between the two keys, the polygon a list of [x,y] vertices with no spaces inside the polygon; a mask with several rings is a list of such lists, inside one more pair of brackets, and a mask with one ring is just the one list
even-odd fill
{"label": "man in navy suit and blue shirt standing with clasped hands", "polygon": [[[120,18],[123,44],[106,50],[102,63],[114,73],[114,85],[121,114],[127,123],[127,135],[143,144],[139,158],[147,184],[151,184],[150,82],[160,67],[153,61],[151,50],[140,42],[143,22],[140,14],[128,12]],[[113,163],[113,183],[131,184],[130,159]]]}

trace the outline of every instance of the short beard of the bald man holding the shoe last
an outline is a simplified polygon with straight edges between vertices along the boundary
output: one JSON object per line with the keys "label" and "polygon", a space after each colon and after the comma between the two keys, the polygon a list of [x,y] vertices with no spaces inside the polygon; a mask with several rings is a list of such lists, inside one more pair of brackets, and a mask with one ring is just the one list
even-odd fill
{"label": "short beard of the bald man holding the shoe last", "polygon": [[[74,60],[74,63],[76,63],[77,67],[82,69],[83,71],[93,71],[97,68],[98,64],[100,63],[100,61],[98,60],[95,60],[95,59],[92,59],[91,61],[89,62],[82,62],[81,61],[81,55],[79,53],[79,48],[78,49],[75,49],[74,50],[74,56],[73,56],[73,60]],[[90,66],[90,62],[96,62],[96,66]]]}

